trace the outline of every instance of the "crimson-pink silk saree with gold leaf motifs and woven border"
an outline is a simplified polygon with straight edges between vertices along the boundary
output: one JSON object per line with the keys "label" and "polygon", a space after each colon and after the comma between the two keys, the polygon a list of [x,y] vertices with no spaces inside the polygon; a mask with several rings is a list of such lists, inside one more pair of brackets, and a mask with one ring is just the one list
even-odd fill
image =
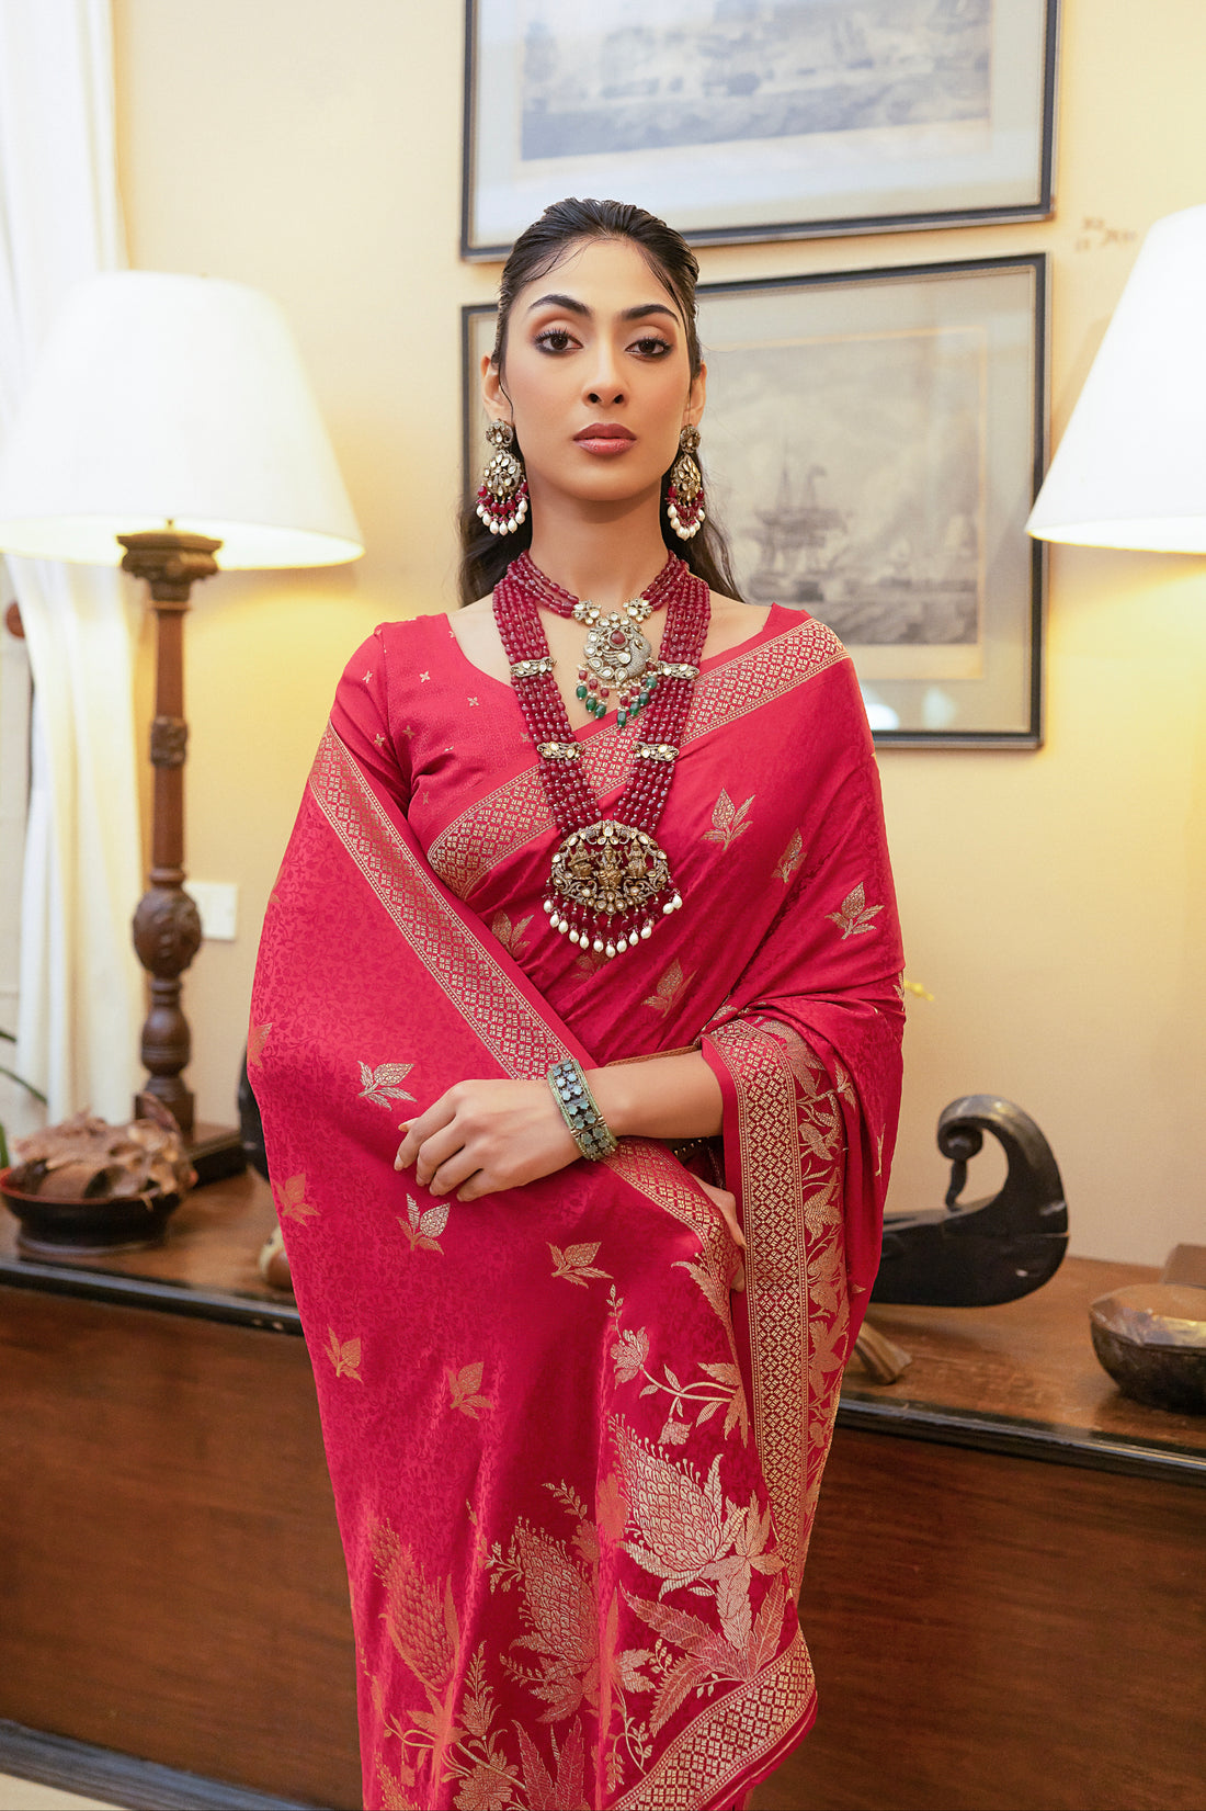
{"label": "crimson-pink silk saree with gold leaf motifs and woven border", "polygon": [[[608,810],[632,730],[579,732]],[[875,1279],[900,944],[849,659],[775,608],[704,663],[659,840],[684,896],[607,963],[541,911],[509,686],[445,618],[349,663],[264,924],[248,1047],[313,1360],[366,1806],[719,1811],[815,1715],[795,1599]],[[398,1125],[465,1078],[699,1047],[748,1241],[623,1139],[442,1201]]]}

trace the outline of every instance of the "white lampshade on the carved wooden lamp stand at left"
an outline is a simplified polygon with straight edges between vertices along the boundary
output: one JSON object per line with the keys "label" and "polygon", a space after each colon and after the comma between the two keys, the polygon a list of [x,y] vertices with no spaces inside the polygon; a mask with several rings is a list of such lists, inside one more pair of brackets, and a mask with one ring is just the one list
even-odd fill
{"label": "white lampshade on the carved wooden lamp stand at left", "polygon": [[241,283],[92,277],[53,324],[0,458],[0,549],[116,565],[170,522],[219,567],[364,552],[288,322]]}

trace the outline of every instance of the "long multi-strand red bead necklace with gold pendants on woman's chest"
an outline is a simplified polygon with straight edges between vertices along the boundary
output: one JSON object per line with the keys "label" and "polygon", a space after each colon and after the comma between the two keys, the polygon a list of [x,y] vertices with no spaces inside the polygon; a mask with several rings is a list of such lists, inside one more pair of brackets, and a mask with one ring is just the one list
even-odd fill
{"label": "long multi-strand red bead necklace with gold pendants on woman's chest", "polygon": [[[549,639],[540,621],[540,605],[558,616],[587,623],[596,639],[596,663],[627,677],[621,679],[623,721],[637,710],[648,712],[645,739],[632,750],[632,773],[616,815],[603,817],[599,799],[581,771],[581,744],[552,677]],[[639,605],[648,605],[639,610]],[[650,610],[666,608],[661,657],[650,659],[650,647],[639,636],[639,621]],[[627,616],[627,621],[625,621]],[[614,623],[612,623],[614,618]],[[494,621],[502,636],[511,677],[529,733],[540,757],[540,777],[549,810],[561,831],[552,857],[545,895],[545,913],[554,931],[572,944],[601,956],[619,956],[654,934],[661,915],[679,911],[683,895],[674,886],[670,864],[654,833],[661,820],[679,739],[699,677],[699,657],[708,636],[710,594],[704,580],[674,554],[639,599],[621,612],[603,618],[596,605],[579,601],[554,585],[527,552],[507,567],[494,587]],[[603,636],[598,636],[598,630]],[[643,645],[643,647],[641,647]],[[589,637],[590,647],[590,637]],[[621,656],[630,652],[630,659]],[[581,688],[589,685],[590,654],[583,652]],[[648,677],[646,677],[648,676]],[[596,674],[598,677],[598,674]],[[634,690],[636,685],[636,690]],[[610,686],[608,686],[610,690]],[[603,686],[598,686],[598,694]],[[596,695],[598,695],[596,694]],[[607,712],[605,695],[599,697]]]}

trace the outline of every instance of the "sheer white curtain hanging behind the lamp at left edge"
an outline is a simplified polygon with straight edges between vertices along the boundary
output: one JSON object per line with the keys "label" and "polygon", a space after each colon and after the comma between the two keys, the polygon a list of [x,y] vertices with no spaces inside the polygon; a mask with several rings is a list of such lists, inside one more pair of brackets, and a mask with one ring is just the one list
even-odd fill
{"label": "sheer white curtain hanging behind the lamp at left edge", "polygon": [[[0,435],[65,295],[125,266],[109,0],[0,0]],[[127,1119],[139,831],[127,581],[9,560],[34,679],[16,1068],[60,1119]]]}

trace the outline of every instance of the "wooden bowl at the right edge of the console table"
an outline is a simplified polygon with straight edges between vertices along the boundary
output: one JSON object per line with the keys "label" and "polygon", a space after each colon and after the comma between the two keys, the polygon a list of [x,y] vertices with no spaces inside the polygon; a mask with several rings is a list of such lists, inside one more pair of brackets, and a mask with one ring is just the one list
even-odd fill
{"label": "wooden bowl at the right edge of the console table", "polygon": [[1132,1282],[1088,1309],[1097,1358],[1125,1396],[1206,1414],[1206,1289]]}

